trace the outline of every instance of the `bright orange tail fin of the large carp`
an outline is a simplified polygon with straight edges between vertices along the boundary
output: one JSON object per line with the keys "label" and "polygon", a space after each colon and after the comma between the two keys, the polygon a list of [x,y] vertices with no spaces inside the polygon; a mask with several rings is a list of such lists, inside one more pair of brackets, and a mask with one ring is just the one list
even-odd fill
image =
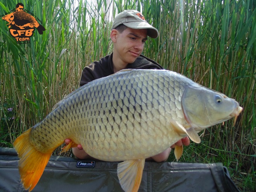
{"label": "bright orange tail fin of the large carp", "polygon": [[31,128],[22,133],[14,141],[14,148],[20,158],[18,168],[21,175],[21,182],[24,189],[29,189],[29,192],[38,183],[52,154],[52,150],[42,153],[33,147],[29,140],[30,131]]}

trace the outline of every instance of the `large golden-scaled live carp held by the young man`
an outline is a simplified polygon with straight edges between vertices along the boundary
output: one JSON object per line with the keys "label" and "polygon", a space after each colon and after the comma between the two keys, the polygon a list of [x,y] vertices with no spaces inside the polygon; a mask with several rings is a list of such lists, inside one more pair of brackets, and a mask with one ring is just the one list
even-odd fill
{"label": "large golden-scaled live carp held by the young man", "polygon": [[[92,157],[123,161],[117,174],[125,191],[137,191],[145,159],[185,136],[237,118],[234,99],[167,70],[125,69],[81,86],[57,103],[45,119],[17,137],[19,173],[31,191],[55,148],[81,144]],[[175,147],[180,158],[182,147]]]}

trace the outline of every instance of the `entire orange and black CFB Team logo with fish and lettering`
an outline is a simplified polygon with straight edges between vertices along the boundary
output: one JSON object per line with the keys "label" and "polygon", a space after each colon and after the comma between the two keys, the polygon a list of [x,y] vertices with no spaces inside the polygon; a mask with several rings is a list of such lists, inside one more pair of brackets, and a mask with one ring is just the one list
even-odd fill
{"label": "entire orange and black CFB Team logo with fish and lettering", "polygon": [[36,21],[35,17],[24,11],[22,3],[17,3],[16,10],[3,16],[2,19],[9,22],[7,24],[9,33],[16,39],[17,43],[28,43],[35,28],[40,35],[45,31],[45,28]]}

